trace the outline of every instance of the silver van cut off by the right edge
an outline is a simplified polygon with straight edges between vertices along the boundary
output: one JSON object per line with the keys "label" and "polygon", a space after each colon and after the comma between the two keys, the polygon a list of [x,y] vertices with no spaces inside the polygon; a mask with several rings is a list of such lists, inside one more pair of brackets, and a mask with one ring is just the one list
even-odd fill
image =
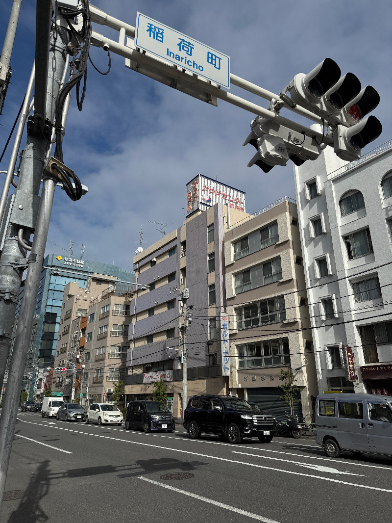
{"label": "silver van cut off by the right edge", "polygon": [[315,439],[327,456],[342,450],[392,456],[392,396],[319,394],[315,414]]}

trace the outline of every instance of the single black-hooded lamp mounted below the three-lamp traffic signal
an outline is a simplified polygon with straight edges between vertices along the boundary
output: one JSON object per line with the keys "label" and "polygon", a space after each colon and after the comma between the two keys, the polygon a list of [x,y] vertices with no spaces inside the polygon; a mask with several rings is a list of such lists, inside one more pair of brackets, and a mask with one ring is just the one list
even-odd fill
{"label": "single black-hooded lamp mounted below the three-lamp traffic signal", "polygon": [[333,151],[342,160],[359,160],[365,145],[379,137],[381,122],[371,115],[351,127],[338,126],[333,131]]}

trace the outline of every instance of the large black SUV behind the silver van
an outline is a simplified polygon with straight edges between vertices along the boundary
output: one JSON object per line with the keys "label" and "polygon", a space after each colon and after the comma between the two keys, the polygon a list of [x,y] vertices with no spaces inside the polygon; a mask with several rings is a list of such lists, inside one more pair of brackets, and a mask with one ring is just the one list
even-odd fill
{"label": "large black SUV behind the silver van", "polygon": [[275,436],[276,420],[270,412],[262,412],[238,397],[198,394],[188,401],[183,426],[192,439],[204,432],[230,443],[253,436],[268,443]]}

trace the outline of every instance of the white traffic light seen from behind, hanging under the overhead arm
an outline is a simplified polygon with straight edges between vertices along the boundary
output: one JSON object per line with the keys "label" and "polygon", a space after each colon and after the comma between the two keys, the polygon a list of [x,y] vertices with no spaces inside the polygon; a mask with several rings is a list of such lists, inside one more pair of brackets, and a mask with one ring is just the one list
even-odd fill
{"label": "white traffic light seen from behind, hanging under the overhead arm", "polygon": [[302,165],[306,160],[316,160],[320,145],[312,138],[293,131],[275,121],[256,117],[250,124],[251,132],[243,145],[250,143],[257,153],[248,167],[257,165],[268,173],[274,165],[286,165],[291,160]]}

